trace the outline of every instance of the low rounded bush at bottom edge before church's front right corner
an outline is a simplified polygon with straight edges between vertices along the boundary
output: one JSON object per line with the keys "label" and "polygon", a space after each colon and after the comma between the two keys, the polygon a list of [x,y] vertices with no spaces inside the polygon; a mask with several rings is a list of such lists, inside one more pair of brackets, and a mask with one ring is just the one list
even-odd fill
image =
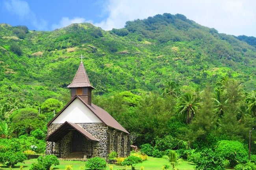
{"label": "low rounded bush at bottom edge before church's front right corner", "polygon": [[90,170],[100,170],[106,168],[106,161],[100,157],[93,157],[88,159],[87,163],[85,163],[85,167]]}

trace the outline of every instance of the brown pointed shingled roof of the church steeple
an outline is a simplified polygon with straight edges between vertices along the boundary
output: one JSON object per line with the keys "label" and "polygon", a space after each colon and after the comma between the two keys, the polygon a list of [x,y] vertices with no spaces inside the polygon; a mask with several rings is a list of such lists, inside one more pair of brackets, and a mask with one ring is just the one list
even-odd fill
{"label": "brown pointed shingled roof of the church steeple", "polygon": [[89,77],[85,71],[85,68],[83,66],[83,62],[80,63],[76,75],[69,86],[67,88],[83,88],[83,87],[91,87],[92,89],[95,89],[89,80]]}

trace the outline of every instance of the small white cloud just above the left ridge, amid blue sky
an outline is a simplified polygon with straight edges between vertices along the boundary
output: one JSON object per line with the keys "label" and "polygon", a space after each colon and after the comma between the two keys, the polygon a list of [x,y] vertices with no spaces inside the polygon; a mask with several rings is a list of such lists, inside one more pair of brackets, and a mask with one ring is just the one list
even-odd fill
{"label": "small white cloud just above the left ridge, amid blue sky", "polygon": [[72,19],[69,19],[69,17],[62,17],[61,20],[59,21],[59,24],[52,25],[52,29],[63,28],[63,27],[69,26],[70,24],[83,23],[83,22],[93,23],[92,20],[85,20],[85,18],[80,18],[80,17],[74,17]]}

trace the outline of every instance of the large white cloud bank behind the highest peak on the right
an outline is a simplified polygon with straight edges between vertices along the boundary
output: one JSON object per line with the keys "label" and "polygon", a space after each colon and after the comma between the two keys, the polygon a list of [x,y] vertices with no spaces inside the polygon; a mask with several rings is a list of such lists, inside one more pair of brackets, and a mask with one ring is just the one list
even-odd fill
{"label": "large white cloud bank behind the highest peak on the right", "polygon": [[110,30],[128,20],[180,13],[221,33],[256,36],[255,6],[255,0],[109,0],[104,9],[108,18],[95,25]]}

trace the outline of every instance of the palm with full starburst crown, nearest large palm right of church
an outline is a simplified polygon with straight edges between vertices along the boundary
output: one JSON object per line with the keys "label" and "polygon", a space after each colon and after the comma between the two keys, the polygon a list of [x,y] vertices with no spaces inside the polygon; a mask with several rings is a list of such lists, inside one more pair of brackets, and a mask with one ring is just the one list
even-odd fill
{"label": "palm with full starburst crown, nearest large palm right of church", "polygon": [[178,113],[179,115],[186,115],[186,123],[190,123],[197,110],[200,108],[200,104],[201,102],[199,102],[197,95],[185,93],[178,103]]}

